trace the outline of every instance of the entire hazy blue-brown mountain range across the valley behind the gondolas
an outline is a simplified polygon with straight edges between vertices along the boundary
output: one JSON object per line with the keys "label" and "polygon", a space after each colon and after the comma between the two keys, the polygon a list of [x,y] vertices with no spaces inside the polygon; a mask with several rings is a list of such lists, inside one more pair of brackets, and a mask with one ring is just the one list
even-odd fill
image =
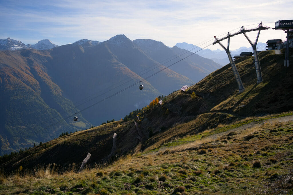
{"label": "entire hazy blue-brown mountain range across the valley behind the gondolas", "polygon": [[0,51],[0,153],[120,120],[158,96],[195,84],[218,67],[184,49],[155,40],[131,41],[125,35],[48,50]]}

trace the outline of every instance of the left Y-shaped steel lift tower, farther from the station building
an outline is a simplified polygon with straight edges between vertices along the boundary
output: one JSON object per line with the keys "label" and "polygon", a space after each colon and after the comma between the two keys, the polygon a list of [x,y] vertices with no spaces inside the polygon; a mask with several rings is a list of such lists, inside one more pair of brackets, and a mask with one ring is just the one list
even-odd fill
{"label": "left Y-shaped steel lift tower, farther from the station building", "polygon": [[[234,36],[234,35],[232,35],[232,36]],[[221,45],[221,47],[226,51],[226,53],[228,55],[228,58],[229,58],[229,61],[230,61],[232,71],[234,73],[234,76],[235,76],[235,79],[236,79],[236,82],[237,82],[237,85],[238,85],[238,88],[239,88],[239,93],[241,93],[242,91],[244,91],[243,83],[242,83],[241,78],[239,76],[239,72],[238,72],[238,70],[236,68],[235,62],[233,61],[233,58],[231,56],[231,51],[229,50],[230,37],[232,37],[232,36],[230,35],[229,32],[228,32],[228,35],[226,37],[222,38],[222,39],[217,39],[216,36],[214,36],[215,41],[214,41],[213,45],[216,44],[216,43],[219,43],[219,45]],[[224,40],[226,38],[228,38],[227,48],[224,45],[222,45],[222,43],[220,43],[221,40]]]}

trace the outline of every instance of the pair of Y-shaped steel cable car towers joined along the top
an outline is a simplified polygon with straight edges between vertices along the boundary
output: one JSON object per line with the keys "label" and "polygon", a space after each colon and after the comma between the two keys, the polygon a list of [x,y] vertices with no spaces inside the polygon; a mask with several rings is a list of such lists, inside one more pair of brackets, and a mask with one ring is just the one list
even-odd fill
{"label": "pair of Y-shaped steel cable car towers joined along the top", "polygon": [[[240,28],[240,30],[234,34],[230,34],[228,32],[227,36],[224,37],[224,38],[221,38],[221,39],[217,39],[216,36],[214,36],[215,38],[215,41],[213,43],[216,44],[216,43],[219,43],[221,45],[222,48],[224,48],[224,50],[227,52],[227,55],[229,57],[229,60],[230,60],[230,64],[231,64],[231,67],[232,67],[232,70],[233,70],[233,73],[234,73],[234,76],[236,78],[236,82],[238,84],[238,87],[239,87],[239,93],[241,93],[242,91],[244,91],[244,87],[243,87],[243,84],[242,84],[242,81],[241,81],[241,78],[239,76],[239,73],[237,71],[237,68],[235,66],[235,62],[233,61],[232,59],[232,56],[230,54],[230,51],[229,51],[229,42],[230,42],[230,37],[233,37],[235,35],[239,35],[241,33],[243,33],[243,35],[246,37],[246,39],[248,40],[248,42],[251,44],[252,48],[253,48],[253,55],[254,55],[254,61],[255,61],[255,70],[256,70],[256,75],[257,75],[257,83],[260,83],[263,81],[263,77],[262,77],[262,74],[261,74],[261,69],[260,69],[260,63],[259,63],[259,59],[258,59],[258,52],[257,52],[257,47],[256,47],[256,44],[257,44],[257,41],[258,41],[258,37],[259,37],[259,34],[260,34],[260,30],[267,30],[269,29],[270,27],[266,27],[266,26],[263,26],[263,23],[261,22],[257,28],[252,28],[252,29],[245,29],[244,26],[242,26]],[[247,32],[251,32],[251,31],[256,31],[258,30],[258,35],[255,39],[255,42],[254,44],[251,42],[251,40],[248,38],[248,36],[245,34]],[[227,48],[225,48],[221,43],[220,41],[224,40],[224,39],[227,39],[228,38],[228,46]]]}

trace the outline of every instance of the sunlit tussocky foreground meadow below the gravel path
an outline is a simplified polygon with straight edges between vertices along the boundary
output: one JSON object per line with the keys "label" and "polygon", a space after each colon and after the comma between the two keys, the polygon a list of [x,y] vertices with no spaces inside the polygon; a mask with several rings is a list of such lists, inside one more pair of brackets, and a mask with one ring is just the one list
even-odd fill
{"label": "sunlit tussocky foreground meadow below the gravel path", "polygon": [[292,194],[292,138],[293,122],[275,121],[81,173],[22,170],[0,194]]}

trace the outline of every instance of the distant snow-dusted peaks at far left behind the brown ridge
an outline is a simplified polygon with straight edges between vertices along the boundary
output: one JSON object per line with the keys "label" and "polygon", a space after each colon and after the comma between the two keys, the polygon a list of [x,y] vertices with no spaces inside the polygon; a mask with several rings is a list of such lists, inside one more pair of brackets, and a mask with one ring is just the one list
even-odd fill
{"label": "distant snow-dusted peaks at far left behind the brown ridge", "polygon": [[25,45],[21,41],[13,40],[11,38],[0,39],[0,50],[19,50],[19,49],[36,49],[36,50],[49,50],[54,47],[58,47],[49,39],[40,40],[38,43],[31,45]]}

